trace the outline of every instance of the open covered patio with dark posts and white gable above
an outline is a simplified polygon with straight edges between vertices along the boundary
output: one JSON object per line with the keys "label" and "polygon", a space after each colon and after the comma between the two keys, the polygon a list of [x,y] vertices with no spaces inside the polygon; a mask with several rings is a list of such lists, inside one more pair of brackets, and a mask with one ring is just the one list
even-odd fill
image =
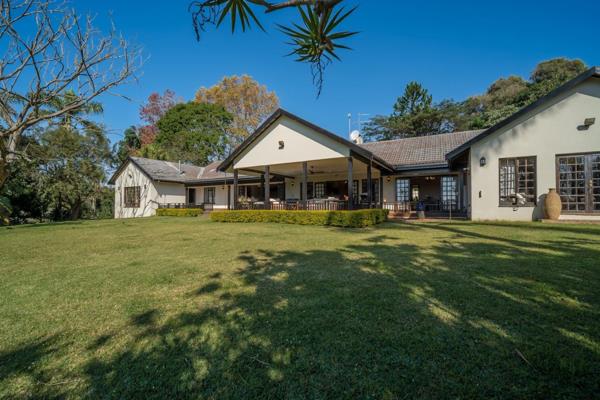
{"label": "open covered patio with dark posts and white gable above", "polygon": [[[219,170],[233,175],[233,209],[355,210],[383,206],[383,176],[393,167],[356,143],[279,110]],[[240,192],[241,176],[260,179],[262,199]],[[274,179],[283,180],[276,193]]]}

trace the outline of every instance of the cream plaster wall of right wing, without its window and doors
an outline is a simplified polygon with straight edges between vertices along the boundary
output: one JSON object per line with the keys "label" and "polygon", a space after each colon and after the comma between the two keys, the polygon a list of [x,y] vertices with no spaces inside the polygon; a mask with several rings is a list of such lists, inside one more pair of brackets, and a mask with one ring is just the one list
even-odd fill
{"label": "cream plaster wall of right wing, without its window and doors", "polygon": [[[596,118],[588,130],[578,130]],[[591,78],[551,104],[515,121],[471,147],[471,218],[530,221],[543,217],[549,188],[556,187],[556,155],[600,152],[600,80]],[[499,206],[499,159],[536,156],[537,205]],[[487,164],[480,167],[485,157]]]}

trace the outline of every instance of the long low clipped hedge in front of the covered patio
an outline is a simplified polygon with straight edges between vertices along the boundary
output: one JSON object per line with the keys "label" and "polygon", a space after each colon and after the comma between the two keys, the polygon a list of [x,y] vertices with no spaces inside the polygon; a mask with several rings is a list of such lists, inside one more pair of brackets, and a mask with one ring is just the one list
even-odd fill
{"label": "long low clipped hedge in front of the covered patio", "polygon": [[229,210],[213,211],[210,219],[216,222],[275,222],[364,228],[384,222],[387,214],[388,210],[381,209],[356,211]]}

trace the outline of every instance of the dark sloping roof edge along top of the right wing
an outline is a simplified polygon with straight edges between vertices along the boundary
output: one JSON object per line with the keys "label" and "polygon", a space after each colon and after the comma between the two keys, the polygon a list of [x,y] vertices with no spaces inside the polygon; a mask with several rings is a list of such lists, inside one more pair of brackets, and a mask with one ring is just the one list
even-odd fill
{"label": "dark sloping roof edge along top of the right wing", "polygon": [[585,81],[589,78],[600,78],[600,67],[592,67],[592,68],[588,69],[587,71],[585,71],[582,74],[571,79],[564,85],[559,86],[558,88],[554,89],[553,91],[551,91],[544,97],[541,97],[540,99],[531,103],[530,105],[523,107],[522,109],[520,109],[519,111],[517,111],[510,117],[498,122],[496,125],[492,126],[491,128],[484,130],[480,135],[472,138],[471,140],[465,142],[461,146],[457,147],[456,149],[454,149],[450,153],[448,153],[448,155],[446,156],[446,159],[451,162],[452,160],[454,160],[458,156],[460,156],[465,150],[469,149],[474,143],[476,143],[476,142],[480,141],[481,139],[491,135],[492,133],[497,132],[500,129],[510,125],[511,123],[515,122],[516,120],[523,117],[527,113],[552,101],[553,99],[562,95],[563,93],[568,92],[569,90],[573,89],[575,86],[579,85],[580,83],[582,83],[583,81]]}

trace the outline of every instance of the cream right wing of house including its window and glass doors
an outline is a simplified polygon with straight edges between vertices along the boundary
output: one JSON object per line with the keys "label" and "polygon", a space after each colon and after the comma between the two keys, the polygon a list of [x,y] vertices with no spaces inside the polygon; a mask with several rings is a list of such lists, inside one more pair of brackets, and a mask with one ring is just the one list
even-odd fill
{"label": "cream right wing of house including its window and glass doors", "polygon": [[600,78],[476,141],[469,157],[474,220],[543,218],[550,188],[561,194],[564,215],[600,215]]}

